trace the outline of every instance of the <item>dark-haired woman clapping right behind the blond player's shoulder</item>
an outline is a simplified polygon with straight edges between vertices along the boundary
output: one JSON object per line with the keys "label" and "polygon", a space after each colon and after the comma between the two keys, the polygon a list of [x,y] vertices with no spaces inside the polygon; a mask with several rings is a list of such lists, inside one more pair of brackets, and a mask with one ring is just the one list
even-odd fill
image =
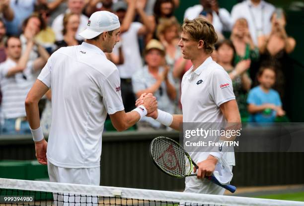
{"label": "dark-haired woman clapping right behind the blond player's shoulder", "polygon": [[251,87],[251,79],[247,74],[250,67],[250,59],[241,60],[235,66],[233,57],[235,49],[230,40],[224,40],[216,45],[218,63],[228,72],[233,86],[233,92],[238,105],[242,121],[248,118],[247,93]]}

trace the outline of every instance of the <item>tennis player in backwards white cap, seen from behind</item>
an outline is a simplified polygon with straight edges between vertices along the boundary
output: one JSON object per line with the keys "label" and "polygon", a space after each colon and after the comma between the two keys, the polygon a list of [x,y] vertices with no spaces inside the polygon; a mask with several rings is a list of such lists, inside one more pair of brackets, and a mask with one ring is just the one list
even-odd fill
{"label": "tennis player in backwards white cap, seen from behind", "polygon": [[[25,101],[35,141],[36,156],[48,164],[50,181],[99,185],[101,134],[107,113],[122,131],[154,111],[149,95],[145,104],[126,113],[116,66],[104,52],[119,41],[118,17],[108,11],[93,13],[79,35],[81,45],[54,52]],[[38,102],[52,89],[52,126],[48,143],[40,127]]]}

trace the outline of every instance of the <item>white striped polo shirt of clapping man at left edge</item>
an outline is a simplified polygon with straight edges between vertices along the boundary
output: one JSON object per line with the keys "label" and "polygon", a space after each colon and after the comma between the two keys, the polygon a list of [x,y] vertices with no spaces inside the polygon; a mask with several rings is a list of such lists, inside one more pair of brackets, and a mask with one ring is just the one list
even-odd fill
{"label": "white striped polo shirt of clapping man at left edge", "polygon": [[29,61],[23,72],[7,77],[8,70],[16,65],[10,58],[0,64],[1,119],[26,116],[24,102],[33,86],[33,63]]}

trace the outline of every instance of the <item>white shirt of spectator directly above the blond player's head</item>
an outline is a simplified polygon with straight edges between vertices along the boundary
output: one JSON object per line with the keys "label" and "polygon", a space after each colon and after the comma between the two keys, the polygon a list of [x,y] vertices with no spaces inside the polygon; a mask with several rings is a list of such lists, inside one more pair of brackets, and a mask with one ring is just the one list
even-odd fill
{"label": "white shirt of spectator directly above the blond player's head", "polygon": [[[191,6],[186,9],[184,14],[184,19],[195,19],[203,11],[203,6],[201,4]],[[226,8],[219,9],[219,15],[213,11],[212,12],[213,20],[212,25],[217,32],[230,31],[232,28],[232,21],[230,13]]]}

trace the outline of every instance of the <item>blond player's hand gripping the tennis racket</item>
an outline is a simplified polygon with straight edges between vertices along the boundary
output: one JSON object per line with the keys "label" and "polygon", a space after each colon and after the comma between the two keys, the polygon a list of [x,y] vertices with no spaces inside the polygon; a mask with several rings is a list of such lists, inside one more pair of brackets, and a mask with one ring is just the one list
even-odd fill
{"label": "blond player's hand gripping the tennis racket", "polygon": [[[215,170],[215,165],[218,163],[218,159],[212,155],[209,155],[208,158],[204,161],[199,162],[197,178],[203,179],[205,176],[211,176]],[[194,172],[196,172],[196,167],[194,167]]]}

